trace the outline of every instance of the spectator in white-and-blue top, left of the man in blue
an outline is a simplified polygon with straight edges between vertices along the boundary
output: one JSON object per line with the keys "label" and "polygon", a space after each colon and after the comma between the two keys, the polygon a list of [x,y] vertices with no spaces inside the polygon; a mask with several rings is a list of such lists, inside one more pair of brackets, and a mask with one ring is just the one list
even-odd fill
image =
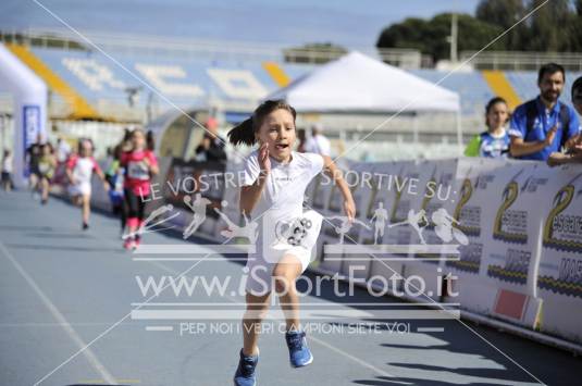
{"label": "spectator in white-and-blue top, left of the man in blue", "polygon": [[465,155],[507,158],[510,138],[505,129],[509,121],[509,109],[505,99],[495,97],[485,107],[487,130],[476,135],[467,146]]}

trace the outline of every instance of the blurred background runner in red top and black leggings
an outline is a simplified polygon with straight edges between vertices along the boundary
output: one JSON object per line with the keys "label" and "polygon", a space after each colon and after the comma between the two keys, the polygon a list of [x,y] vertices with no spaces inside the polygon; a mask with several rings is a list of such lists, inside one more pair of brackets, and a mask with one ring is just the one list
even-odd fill
{"label": "blurred background runner in red top and black leggings", "polygon": [[132,149],[121,155],[125,169],[123,195],[127,209],[127,237],[124,248],[135,250],[139,247],[139,227],[144,223],[146,201],[150,195],[151,177],[158,174],[158,160],[147,148],[146,136],[141,129],[134,129],[131,136]]}

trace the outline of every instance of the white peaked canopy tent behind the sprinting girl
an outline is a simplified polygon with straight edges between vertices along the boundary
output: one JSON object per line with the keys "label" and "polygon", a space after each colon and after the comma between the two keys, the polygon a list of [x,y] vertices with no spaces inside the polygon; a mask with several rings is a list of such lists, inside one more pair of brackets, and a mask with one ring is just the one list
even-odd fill
{"label": "white peaked canopy tent behind the sprinting girl", "polygon": [[400,69],[350,52],[294,80],[267,99],[285,99],[300,113],[450,112],[462,142],[460,97]]}

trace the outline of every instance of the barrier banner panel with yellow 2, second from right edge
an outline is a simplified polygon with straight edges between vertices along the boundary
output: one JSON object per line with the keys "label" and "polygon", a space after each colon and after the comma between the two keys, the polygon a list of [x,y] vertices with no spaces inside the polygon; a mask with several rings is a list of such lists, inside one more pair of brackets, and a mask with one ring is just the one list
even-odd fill
{"label": "barrier banner panel with yellow 2, second from right edge", "polygon": [[482,273],[499,287],[534,295],[534,272],[538,259],[542,189],[548,178],[541,164],[512,163],[496,170],[487,182],[482,201],[484,212]]}

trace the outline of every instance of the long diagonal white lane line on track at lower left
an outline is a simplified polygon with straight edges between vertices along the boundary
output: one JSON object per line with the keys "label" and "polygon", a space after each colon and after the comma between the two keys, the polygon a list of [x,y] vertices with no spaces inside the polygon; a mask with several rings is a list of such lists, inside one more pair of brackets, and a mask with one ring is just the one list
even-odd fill
{"label": "long diagonal white lane line on track at lower left", "polygon": [[[16,271],[24,277],[26,283],[33,288],[33,290],[38,295],[45,307],[49,310],[49,312],[52,314],[52,316],[57,320],[57,322],[63,327],[65,333],[69,335],[69,337],[79,347],[84,348],[87,346],[85,341],[78,336],[78,334],[71,327],[71,324],[66,321],[66,319],[63,316],[63,314],[59,311],[59,309],[54,306],[52,301],[50,301],[49,297],[42,292],[42,289],[36,284],[36,282],[24,271],[22,265],[14,259],[12,253],[4,247],[2,241],[0,241],[0,250],[2,251],[2,254],[14,265]],[[94,366],[94,369],[103,377],[103,379],[110,384],[110,385],[117,385],[115,378],[111,375],[111,373],[103,366],[103,364],[99,361],[99,359],[95,356],[95,353],[90,349],[86,349],[83,351],[83,354],[87,359],[87,361],[90,363],[90,365]],[[61,366],[54,369],[49,374],[45,375],[42,378],[37,381],[35,383],[35,386],[40,384],[42,381],[48,378],[50,375],[52,375],[55,371],[61,369]]]}

